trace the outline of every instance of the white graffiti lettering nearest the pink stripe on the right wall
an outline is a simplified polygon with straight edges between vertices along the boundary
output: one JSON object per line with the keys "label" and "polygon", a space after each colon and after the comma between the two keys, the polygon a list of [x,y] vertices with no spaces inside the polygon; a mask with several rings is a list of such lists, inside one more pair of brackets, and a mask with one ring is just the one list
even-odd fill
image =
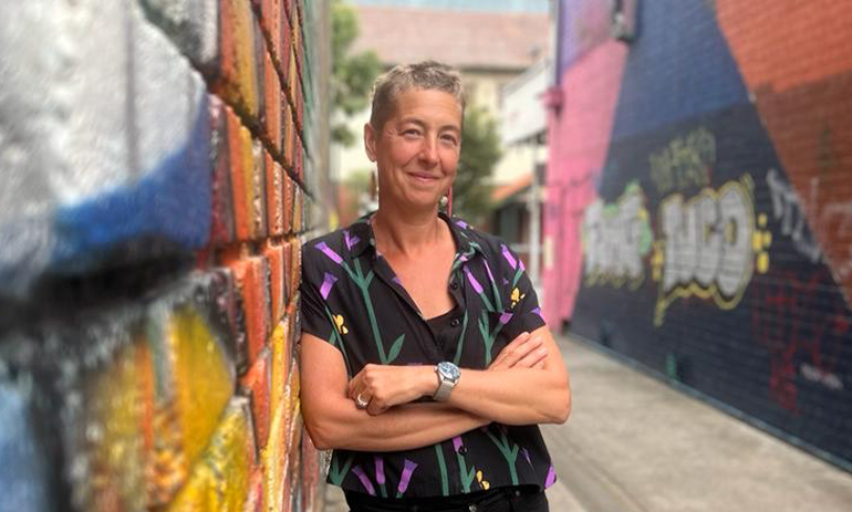
{"label": "white graffiti lettering nearest the pink stripe on the right wall", "polygon": [[653,240],[640,186],[628,185],[611,205],[595,200],[585,211],[582,237],[586,285],[620,288],[627,282],[632,290],[638,288],[645,276],[642,261]]}

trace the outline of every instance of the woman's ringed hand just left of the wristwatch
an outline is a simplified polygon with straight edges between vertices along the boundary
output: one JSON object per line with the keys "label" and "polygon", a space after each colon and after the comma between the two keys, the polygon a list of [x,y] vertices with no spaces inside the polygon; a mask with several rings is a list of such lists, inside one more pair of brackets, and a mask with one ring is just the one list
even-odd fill
{"label": "woman's ringed hand just left of the wristwatch", "polygon": [[349,382],[347,395],[367,403],[366,411],[380,415],[433,393],[438,377],[433,366],[366,365]]}

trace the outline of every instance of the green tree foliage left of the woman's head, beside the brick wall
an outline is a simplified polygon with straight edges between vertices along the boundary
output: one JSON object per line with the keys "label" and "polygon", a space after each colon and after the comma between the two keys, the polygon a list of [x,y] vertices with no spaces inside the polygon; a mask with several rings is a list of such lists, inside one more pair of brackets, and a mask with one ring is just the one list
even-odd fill
{"label": "green tree foliage left of the woman's head, beside the brick wall", "polygon": [[331,18],[331,93],[337,114],[332,123],[332,139],[351,146],[356,140],[356,134],[349,129],[343,117],[352,116],[367,106],[373,82],[382,71],[382,63],[374,51],[350,53],[350,46],[359,35],[357,17],[350,6],[341,0],[333,0]]}

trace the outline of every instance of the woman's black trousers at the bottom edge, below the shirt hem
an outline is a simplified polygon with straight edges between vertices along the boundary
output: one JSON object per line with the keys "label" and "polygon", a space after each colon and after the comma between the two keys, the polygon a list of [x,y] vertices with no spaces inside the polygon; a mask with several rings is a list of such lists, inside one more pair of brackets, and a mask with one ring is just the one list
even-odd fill
{"label": "woman's black trousers at the bottom edge, below the shirt hem", "polygon": [[346,492],[350,512],[549,512],[544,491],[499,488],[440,498],[383,499]]}

